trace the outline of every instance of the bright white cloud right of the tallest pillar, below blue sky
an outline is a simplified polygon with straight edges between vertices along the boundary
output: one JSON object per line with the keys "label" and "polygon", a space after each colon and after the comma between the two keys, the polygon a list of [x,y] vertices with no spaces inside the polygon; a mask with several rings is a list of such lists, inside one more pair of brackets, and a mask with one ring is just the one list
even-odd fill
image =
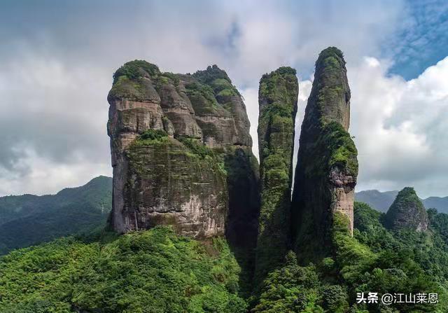
{"label": "bright white cloud right of the tallest pillar, below blue sky", "polygon": [[446,196],[448,57],[412,81],[388,76],[387,67],[367,57],[348,69],[358,189],[414,186],[421,196]]}

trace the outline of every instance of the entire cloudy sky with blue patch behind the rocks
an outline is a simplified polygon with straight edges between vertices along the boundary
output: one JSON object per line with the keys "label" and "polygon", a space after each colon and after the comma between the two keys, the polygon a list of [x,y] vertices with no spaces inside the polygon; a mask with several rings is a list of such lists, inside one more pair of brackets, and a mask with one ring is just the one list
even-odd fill
{"label": "entire cloudy sky with blue patch behind the rocks", "polygon": [[106,95],[129,60],[179,73],[218,64],[244,95],[254,137],[260,76],[297,69],[298,127],[316,57],[337,46],[351,85],[357,189],[447,196],[446,34],[444,0],[3,0],[0,195],[111,175]]}

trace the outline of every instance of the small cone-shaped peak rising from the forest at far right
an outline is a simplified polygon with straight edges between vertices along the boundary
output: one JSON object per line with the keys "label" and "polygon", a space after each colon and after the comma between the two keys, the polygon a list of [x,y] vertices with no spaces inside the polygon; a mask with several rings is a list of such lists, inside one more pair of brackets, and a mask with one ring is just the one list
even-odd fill
{"label": "small cone-shaped peak rising from the forest at far right", "polygon": [[386,226],[394,230],[428,230],[428,214],[414,188],[406,187],[398,193],[386,213]]}

